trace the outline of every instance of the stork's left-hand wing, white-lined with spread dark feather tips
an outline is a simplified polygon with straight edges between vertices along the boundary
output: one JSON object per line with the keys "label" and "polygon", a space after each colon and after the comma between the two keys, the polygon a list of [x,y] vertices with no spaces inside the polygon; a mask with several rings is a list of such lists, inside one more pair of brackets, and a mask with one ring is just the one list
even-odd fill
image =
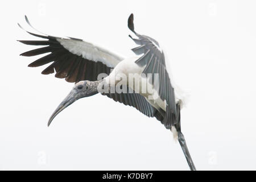
{"label": "stork's left-hand wing, white-lined with spread dark feather tips", "polygon": [[[30,24],[27,16],[25,18],[27,23]],[[55,77],[65,78],[68,82],[79,82],[81,80],[96,81],[100,73],[109,75],[110,69],[123,60],[122,56],[81,39],[57,38],[49,35],[38,35],[32,32],[28,32],[28,34],[45,40],[18,41],[27,45],[44,47],[24,52],[20,54],[21,56],[36,56],[49,53],[32,62],[28,67],[40,67],[52,63],[43,70],[42,74],[56,73]]]}

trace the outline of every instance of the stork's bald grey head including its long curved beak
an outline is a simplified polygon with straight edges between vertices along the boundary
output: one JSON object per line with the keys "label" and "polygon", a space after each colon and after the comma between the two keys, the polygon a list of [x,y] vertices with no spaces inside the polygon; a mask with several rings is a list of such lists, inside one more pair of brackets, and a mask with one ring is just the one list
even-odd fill
{"label": "stork's bald grey head including its long curved beak", "polygon": [[73,102],[79,100],[83,97],[89,97],[97,92],[97,84],[92,81],[80,81],[73,86],[71,92],[69,92],[68,96],[64,98],[64,100],[60,103],[57,109],[53,112],[48,121],[48,126],[51,124],[53,118],[56,117],[61,111],[63,111],[66,107],[73,104]]}

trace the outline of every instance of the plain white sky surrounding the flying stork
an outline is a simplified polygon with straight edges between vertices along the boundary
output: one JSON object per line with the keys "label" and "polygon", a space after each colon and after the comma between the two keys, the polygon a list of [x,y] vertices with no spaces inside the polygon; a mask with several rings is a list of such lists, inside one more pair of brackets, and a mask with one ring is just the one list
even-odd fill
{"label": "plain white sky surrounding the flying stork", "polygon": [[[3,3],[3,2],[2,2]],[[21,57],[38,40],[16,23],[131,56],[127,18],[164,47],[174,80],[191,90],[181,129],[197,169],[256,169],[255,1],[6,1],[1,15],[0,169],[187,170],[155,118],[100,94],[47,121],[73,84]],[[28,28],[27,28],[28,29]],[[40,56],[39,56],[40,57]]]}

